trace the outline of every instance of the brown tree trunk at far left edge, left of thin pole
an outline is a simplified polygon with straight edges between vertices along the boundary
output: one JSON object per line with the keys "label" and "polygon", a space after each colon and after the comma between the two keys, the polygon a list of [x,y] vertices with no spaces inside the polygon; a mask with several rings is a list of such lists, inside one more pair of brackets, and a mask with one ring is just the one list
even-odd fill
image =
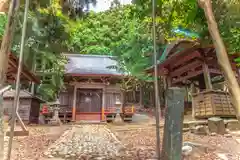
{"label": "brown tree trunk at far left edge, left of thin pole", "polygon": [[[0,88],[4,87],[6,80],[8,53],[11,49],[12,35],[14,32],[14,22],[16,12],[18,10],[18,1],[12,0],[8,12],[8,22],[5,27],[5,32],[2,38],[0,49]],[[0,101],[0,159],[4,156],[4,124],[3,124],[3,103]]]}

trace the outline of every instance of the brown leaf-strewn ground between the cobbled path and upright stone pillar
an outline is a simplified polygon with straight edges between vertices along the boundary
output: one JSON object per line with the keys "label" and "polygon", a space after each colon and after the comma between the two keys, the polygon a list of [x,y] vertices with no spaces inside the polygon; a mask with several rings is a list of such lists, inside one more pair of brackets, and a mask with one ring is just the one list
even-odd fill
{"label": "brown leaf-strewn ground between the cobbled path and upright stone pillar", "polygon": [[[109,126],[110,130],[125,145],[129,159],[156,159],[156,134],[153,126]],[[161,133],[162,135],[162,133]]]}

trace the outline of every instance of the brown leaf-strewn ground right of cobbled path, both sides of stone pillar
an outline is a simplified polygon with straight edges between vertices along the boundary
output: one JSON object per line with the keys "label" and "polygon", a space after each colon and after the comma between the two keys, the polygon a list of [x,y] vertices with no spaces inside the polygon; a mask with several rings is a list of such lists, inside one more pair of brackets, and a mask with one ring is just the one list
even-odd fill
{"label": "brown leaf-strewn ground right of cobbled path, both sides of stone pillar", "polygon": [[[128,148],[132,159],[154,159],[156,146],[156,132],[154,126],[137,125],[134,127],[109,125],[118,139]],[[163,128],[160,130],[163,137]],[[204,149],[194,148],[188,160],[239,160],[240,144],[234,137],[228,136],[200,136],[189,132],[184,133],[183,140],[203,145]],[[221,158],[220,158],[221,157]]]}

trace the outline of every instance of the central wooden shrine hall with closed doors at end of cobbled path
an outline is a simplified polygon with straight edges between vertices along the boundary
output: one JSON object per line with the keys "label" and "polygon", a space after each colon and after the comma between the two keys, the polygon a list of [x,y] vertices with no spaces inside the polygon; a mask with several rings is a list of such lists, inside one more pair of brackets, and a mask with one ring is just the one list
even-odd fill
{"label": "central wooden shrine hall with closed doors at end of cobbled path", "polygon": [[116,103],[122,101],[119,83],[125,76],[111,66],[117,62],[111,56],[65,54],[64,82],[66,89],[59,95],[59,115],[66,113],[71,121],[101,121],[103,112],[114,113]]}

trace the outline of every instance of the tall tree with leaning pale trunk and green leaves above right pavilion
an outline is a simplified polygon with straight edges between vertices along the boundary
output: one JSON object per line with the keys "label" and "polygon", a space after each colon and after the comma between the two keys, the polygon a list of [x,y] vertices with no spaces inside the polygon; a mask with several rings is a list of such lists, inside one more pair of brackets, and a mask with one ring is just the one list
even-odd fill
{"label": "tall tree with leaning pale trunk and green leaves above right pavilion", "polygon": [[[198,3],[199,2],[199,3]],[[144,8],[143,15],[147,16],[151,5],[149,1],[134,0],[140,8]],[[201,8],[199,4],[202,4]],[[240,28],[240,5],[237,0],[161,0],[158,1],[157,22],[158,33],[165,41],[182,38],[183,34],[174,32],[174,29],[184,30],[184,33],[194,31],[198,33],[199,40],[204,44],[214,43],[220,66],[224,77],[231,88],[234,106],[238,112],[239,87],[236,77],[228,60],[228,54],[239,52]],[[189,35],[189,34],[188,34]],[[187,35],[187,37],[189,37]],[[225,42],[225,46],[223,44]],[[236,60],[240,62],[240,57]],[[237,113],[239,116],[239,113]]]}

